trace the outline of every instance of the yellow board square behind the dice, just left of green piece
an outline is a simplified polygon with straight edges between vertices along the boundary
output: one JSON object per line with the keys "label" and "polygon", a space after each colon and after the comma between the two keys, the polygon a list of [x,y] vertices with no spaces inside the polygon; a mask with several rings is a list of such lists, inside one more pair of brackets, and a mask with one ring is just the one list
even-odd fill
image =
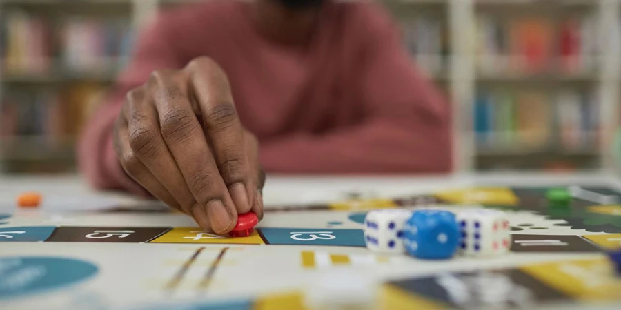
{"label": "yellow board square behind the dice, just left of green piece", "polygon": [[451,189],[437,192],[435,198],[455,204],[517,205],[519,199],[507,188]]}

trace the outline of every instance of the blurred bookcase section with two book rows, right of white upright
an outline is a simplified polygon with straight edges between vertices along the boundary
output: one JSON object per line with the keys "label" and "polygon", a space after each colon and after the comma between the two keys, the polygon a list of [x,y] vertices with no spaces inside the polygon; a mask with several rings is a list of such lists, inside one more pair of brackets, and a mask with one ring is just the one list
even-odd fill
{"label": "blurred bookcase section with two book rows, right of white upright", "polygon": [[476,169],[600,167],[598,12],[598,1],[475,2]]}

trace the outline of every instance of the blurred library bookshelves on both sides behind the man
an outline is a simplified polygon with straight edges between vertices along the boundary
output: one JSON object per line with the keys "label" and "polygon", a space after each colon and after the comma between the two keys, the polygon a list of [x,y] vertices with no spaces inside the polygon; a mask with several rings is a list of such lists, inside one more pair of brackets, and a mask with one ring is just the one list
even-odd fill
{"label": "blurred library bookshelves on both sides behind the man", "polygon": [[[75,172],[141,27],[188,1],[0,0],[0,174]],[[621,0],[375,1],[451,99],[458,171],[621,171]]]}

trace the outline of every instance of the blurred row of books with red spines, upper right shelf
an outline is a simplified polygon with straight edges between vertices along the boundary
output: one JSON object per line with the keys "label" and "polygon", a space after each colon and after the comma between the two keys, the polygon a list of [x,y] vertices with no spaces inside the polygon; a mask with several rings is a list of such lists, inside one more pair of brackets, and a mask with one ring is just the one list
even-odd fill
{"label": "blurred row of books with red spines, upper right shelf", "polygon": [[592,14],[559,21],[480,14],[476,34],[477,68],[485,74],[576,74],[593,70],[598,54]]}

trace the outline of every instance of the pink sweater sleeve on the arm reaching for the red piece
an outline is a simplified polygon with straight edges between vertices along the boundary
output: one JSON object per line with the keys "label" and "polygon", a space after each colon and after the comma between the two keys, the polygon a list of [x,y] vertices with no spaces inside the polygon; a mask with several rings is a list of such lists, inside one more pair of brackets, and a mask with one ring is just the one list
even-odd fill
{"label": "pink sweater sleeve on the arm reaching for the red piece", "polygon": [[148,80],[151,72],[182,66],[175,41],[167,31],[174,20],[159,17],[141,33],[130,62],[119,74],[106,99],[86,122],[77,145],[77,161],[81,173],[96,189],[119,189],[147,195],[121,167],[112,147],[112,130],[128,91]]}

